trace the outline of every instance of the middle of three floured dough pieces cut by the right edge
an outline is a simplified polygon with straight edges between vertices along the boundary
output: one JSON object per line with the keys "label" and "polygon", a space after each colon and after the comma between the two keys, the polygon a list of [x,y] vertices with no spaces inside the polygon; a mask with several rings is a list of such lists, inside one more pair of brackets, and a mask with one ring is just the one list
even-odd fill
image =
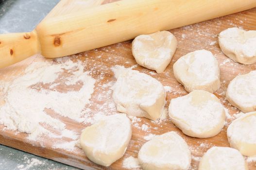
{"label": "middle of three floured dough pieces cut by the right edge", "polygon": [[227,87],[226,98],[244,113],[256,111],[256,70],[235,77]]}

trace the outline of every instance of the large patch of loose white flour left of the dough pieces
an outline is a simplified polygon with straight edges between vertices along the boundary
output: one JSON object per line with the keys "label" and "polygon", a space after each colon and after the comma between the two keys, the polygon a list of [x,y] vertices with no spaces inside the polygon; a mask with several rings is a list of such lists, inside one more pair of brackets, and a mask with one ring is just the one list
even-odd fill
{"label": "large patch of loose white flour left of the dough pieces", "polygon": [[[94,91],[94,83],[81,61],[73,62],[65,57],[34,62],[22,75],[0,85],[5,102],[0,107],[0,124],[7,129],[28,133],[30,140],[41,135],[56,136],[46,127],[75,139],[77,135],[47,111],[77,122],[84,121],[83,111]],[[62,88],[58,88],[59,85]]]}

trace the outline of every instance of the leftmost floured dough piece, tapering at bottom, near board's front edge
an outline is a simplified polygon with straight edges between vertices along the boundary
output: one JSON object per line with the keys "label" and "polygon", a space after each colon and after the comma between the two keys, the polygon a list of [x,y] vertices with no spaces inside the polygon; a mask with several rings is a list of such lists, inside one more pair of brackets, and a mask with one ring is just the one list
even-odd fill
{"label": "leftmost floured dough piece, tapering at bottom, near board's front edge", "polygon": [[125,114],[115,114],[86,127],[80,137],[80,144],[88,159],[108,167],[123,156],[131,136],[130,119]]}

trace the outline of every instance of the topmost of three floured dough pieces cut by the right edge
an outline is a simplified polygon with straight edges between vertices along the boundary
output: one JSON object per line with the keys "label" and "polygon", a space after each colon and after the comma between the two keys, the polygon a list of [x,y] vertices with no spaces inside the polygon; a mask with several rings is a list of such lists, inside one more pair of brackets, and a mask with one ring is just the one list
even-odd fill
{"label": "topmost of three floured dough pieces cut by the right edge", "polygon": [[256,62],[256,31],[228,28],[219,35],[222,52],[242,64]]}

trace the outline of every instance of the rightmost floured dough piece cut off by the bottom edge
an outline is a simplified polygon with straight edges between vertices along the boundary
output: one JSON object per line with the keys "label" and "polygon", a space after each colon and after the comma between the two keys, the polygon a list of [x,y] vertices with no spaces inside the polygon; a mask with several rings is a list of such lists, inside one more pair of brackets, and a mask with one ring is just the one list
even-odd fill
{"label": "rightmost floured dough piece cut off by the bottom edge", "polygon": [[212,147],[202,157],[198,170],[248,170],[248,167],[238,150]]}

